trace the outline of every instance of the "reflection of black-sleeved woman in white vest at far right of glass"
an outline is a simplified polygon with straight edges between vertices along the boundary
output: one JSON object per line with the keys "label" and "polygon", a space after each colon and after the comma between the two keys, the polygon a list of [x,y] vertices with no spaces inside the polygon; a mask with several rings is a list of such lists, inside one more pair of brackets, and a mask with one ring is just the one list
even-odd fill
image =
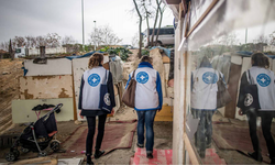
{"label": "reflection of black-sleeved woman in white vest at far right of glass", "polygon": [[[258,92],[258,102],[261,109],[240,109],[239,114],[246,114],[250,125],[250,138],[253,145],[253,153],[249,153],[251,157],[256,161],[262,162],[262,153],[257,139],[256,130],[256,118],[261,117],[262,119],[262,131],[264,139],[267,144],[270,158],[272,164],[275,164],[275,145],[274,140],[271,133],[272,120],[275,117],[275,76],[272,70],[270,70],[270,61],[263,53],[255,53],[251,56],[252,67],[243,73],[240,85],[240,95],[238,107],[241,108],[243,102],[241,98],[244,98],[243,88],[250,85],[250,81],[254,81],[257,86]],[[250,79],[248,78],[250,77]]]}

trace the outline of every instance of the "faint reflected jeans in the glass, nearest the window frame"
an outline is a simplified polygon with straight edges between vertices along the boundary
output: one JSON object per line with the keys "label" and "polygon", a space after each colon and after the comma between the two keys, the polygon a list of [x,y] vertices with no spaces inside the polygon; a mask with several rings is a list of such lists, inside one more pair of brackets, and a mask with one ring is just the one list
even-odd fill
{"label": "faint reflected jeans in the glass, nearest the window frame", "polygon": [[210,147],[212,139],[212,116],[215,111],[191,110],[195,119],[199,119],[199,125],[195,133],[195,145],[200,157],[205,157],[206,148]]}

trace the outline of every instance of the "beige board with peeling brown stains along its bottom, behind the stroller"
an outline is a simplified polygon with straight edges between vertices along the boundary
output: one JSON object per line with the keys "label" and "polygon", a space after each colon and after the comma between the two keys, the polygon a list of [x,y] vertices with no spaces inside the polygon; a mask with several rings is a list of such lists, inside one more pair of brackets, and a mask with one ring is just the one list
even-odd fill
{"label": "beige board with peeling brown stains along its bottom, behind the stroller", "polygon": [[73,98],[72,75],[20,77],[20,99]]}

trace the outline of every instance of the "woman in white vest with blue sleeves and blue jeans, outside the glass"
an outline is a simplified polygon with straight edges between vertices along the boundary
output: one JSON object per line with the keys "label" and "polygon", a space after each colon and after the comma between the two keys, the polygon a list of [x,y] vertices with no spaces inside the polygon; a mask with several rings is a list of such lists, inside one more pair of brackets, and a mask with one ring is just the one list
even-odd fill
{"label": "woman in white vest with blue sleeves and blue jeans, outside the glass", "polygon": [[[154,119],[156,111],[162,110],[163,92],[160,74],[153,68],[153,58],[143,56],[135,72],[129,75],[127,87],[132,74],[136,80],[135,108],[138,113],[138,147],[144,147],[144,124],[146,128],[147,158],[153,158]],[[127,88],[125,87],[125,88]]]}

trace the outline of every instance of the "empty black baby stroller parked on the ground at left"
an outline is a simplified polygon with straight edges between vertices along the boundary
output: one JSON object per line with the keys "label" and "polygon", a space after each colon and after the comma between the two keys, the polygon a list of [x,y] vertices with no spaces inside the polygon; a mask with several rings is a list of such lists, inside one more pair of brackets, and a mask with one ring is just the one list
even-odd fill
{"label": "empty black baby stroller parked on the ground at left", "polygon": [[[19,155],[19,146],[23,153],[29,151],[38,152],[40,156],[46,156],[47,153],[44,151],[48,145],[56,152],[59,150],[61,142],[56,139],[53,140],[57,133],[57,125],[55,120],[55,114],[61,112],[63,103],[57,105],[53,110],[47,112],[45,116],[41,117],[36,122],[32,122],[20,136],[15,138],[15,142],[10,148],[10,152],[6,154],[6,160],[8,162],[15,161]],[[53,140],[53,141],[52,141]]]}

